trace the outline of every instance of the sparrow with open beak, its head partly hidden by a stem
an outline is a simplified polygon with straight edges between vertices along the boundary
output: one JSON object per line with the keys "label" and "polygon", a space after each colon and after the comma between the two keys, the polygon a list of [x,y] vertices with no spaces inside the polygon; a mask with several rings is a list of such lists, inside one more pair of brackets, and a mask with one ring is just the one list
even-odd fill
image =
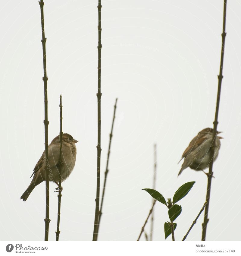
{"label": "sparrow with open beak, its head partly hidden by a stem", "polygon": [[[219,133],[221,132],[218,131],[217,134]],[[212,137],[213,129],[205,128],[202,131],[200,131],[196,137],[192,139],[186,150],[183,152],[181,160],[184,158],[184,162],[182,164],[180,172],[178,173],[178,176],[187,167],[190,167],[195,171],[203,171],[206,168],[208,168],[209,163],[211,161],[210,148],[212,144]],[[219,136],[217,136],[215,139],[213,161],[215,161],[218,157],[218,151],[221,144],[220,139],[222,139],[222,137]],[[180,161],[178,163],[180,163]]]}

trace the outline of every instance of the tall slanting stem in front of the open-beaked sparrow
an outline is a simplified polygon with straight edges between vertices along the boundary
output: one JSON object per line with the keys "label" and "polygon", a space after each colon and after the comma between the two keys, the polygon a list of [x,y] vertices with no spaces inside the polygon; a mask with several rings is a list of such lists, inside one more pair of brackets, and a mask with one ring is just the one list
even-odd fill
{"label": "tall slanting stem in front of the open-beaked sparrow", "polygon": [[[223,32],[222,32],[222,46],[221,46],[221,61],[220,61],[220,69],[218,75],[218,93],[217,93],[217,103],[216,103],[216,112],[215,112],[215,119],[213,122],[213,141],[212,145],[215,145],[215,137],[217,136],[217,127],[218,127],[218,110],[219,110],[219,103],[220,103],[220,95],[221,95],[221,84],[223,79],[223,64],[224,64],[224,45],[225,45],[225,27],[226,27],[226,8],[227,8],[227,0],[224,0],[224,15],[223,15]],[[212,181],[212,173],[213,173],[213,156],[214,156],[214,146],[211,147],[210,150],[211,154],[211,161],[209,164],[209,176],[208,176],[208,186],[207,186],[207,194],[206,194],[206,201],[207,205],[205,207],[204,213],[204,221],[202,223],[202,241],[206,240],[206,232],[207,232],[207,225],[208,225],[208,208],[209,208],[209,201],[210,201],[210,192],[211,192],[211,181]]]}

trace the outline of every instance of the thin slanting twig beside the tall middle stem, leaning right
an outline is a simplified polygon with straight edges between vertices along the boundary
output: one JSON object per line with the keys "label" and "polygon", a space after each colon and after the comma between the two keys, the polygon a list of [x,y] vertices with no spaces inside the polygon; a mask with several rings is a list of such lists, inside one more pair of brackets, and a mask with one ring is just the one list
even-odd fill
{"label": "thin slanting twig beside the tall middle stem, leaning right", "polygon": [[[104,196],[105,196],[106,180],[107,180],[107,175],[108,175],[108,172],[109,172],[108,166],[109,166],[109,159],[110,159],[110,153],[111,153],[111,140],[112,140],[112,136],[113,136],[113,127],[114,127],[114,120],[115,120],[115,111],[116,111],[117,100],[118,99],[116,98],[115,105],[114,105],[114,113],[113,113],[112,125],[111,125],[109,148],[108,148],[106,168],[105,168],[105,179],[104,179],[104,185],[103,185],[103,191],[102,191],[102,199],[101,199],[100,212],[99,212],[99,223],[98,223],[98,227],[97,227],[97,238],[98,238],[98,233],[99,233],[100,220],[101,220],[101,216],[102,216],[102,207],[103,207]],[[97,240],[97,238],[96,238],[96,240]]]}

